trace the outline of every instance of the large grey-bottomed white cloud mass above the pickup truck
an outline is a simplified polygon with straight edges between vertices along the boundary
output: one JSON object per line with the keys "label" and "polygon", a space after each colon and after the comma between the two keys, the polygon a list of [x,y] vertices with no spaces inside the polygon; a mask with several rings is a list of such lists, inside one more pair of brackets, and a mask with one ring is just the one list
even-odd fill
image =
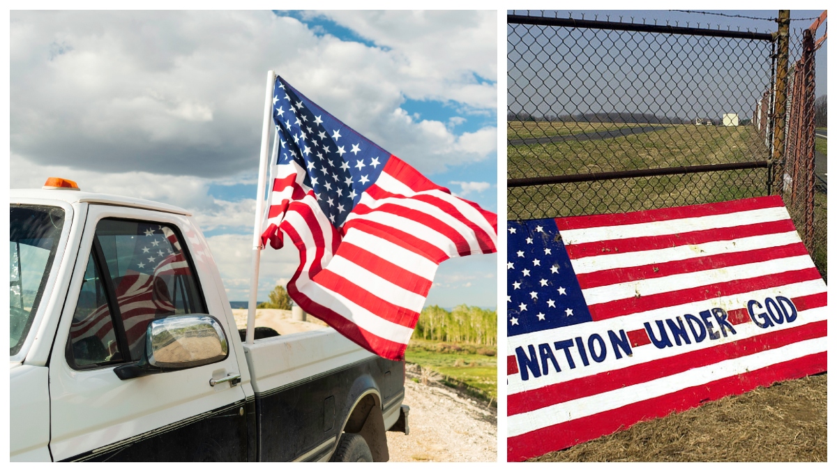
{"label": "large grey-bottomed white cloud mass above the pickup truck", "polygon": [[327,16],[382,47],[270,12],[14,11],[13,154],[99,172],[254,171],[268,69],[421,172],[496,151],[471,136],[496,127],[460,136],[399,111],[414,99],[496,113],[496,84],[475,77],[496,80],[496,12]]}

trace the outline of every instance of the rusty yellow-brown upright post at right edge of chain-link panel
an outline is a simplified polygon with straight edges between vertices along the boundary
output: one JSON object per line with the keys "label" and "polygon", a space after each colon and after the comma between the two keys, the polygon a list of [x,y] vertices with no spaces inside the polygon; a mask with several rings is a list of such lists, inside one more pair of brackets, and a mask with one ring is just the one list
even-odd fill
{"label": "rusty yellow-brown upright post at right edge of chain-link panel", "polygon": [[773,193],[783,192],[785,173],[785,112],[788,93],[790,10],[779,10],[776,34],[776,100],[773,108]]}

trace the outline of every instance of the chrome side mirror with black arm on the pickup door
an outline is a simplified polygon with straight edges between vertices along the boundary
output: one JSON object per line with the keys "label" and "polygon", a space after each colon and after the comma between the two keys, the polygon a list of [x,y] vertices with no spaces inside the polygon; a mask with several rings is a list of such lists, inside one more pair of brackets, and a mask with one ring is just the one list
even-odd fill
{"label": "chrome side mirror with black arm on the pickup door", "polygon": [[122,380],[223,361],[227,337],[212,316],[169,316],[148,323],[146,349],[137,362],[114,368]]}

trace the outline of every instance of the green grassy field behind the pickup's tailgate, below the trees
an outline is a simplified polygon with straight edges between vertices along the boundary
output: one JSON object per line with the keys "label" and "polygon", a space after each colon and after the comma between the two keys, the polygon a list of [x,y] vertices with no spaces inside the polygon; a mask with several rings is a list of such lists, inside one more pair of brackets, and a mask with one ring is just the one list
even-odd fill
{"label": "green grassy field behind the pickup's tailgate, below the trees", "polygon": [[434,372],[451,387],[467,390],[477,398],[496,402],[497,347],[439,341],[410,340],[407,362]]}

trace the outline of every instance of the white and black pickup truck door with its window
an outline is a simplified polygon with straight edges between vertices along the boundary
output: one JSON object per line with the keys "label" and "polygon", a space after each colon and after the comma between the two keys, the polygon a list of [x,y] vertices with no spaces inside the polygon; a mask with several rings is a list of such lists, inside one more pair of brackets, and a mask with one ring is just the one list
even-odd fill
{"label": "white and black pickup truck door with its window", "polygon": [[[244,391],[210,384],[241,372],[204,239],[177,214],[91,205],[87,221],[49,362],[54,460],[246,460]],[[220,322],[228,357],[116,376],[143,356],[150,321],[191,313]]]}

